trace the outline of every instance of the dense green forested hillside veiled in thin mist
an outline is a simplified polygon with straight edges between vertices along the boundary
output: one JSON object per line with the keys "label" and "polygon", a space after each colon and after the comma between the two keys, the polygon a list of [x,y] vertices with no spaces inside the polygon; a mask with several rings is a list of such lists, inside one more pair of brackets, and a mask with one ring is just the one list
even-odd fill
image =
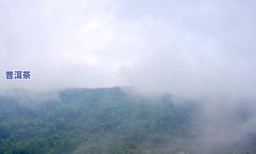
{"label": "dense green forested hillside veiled in thin mist", "polygon": [[118,87],[66,89],[28,104],[2,96],[0,154],[198,153],[198,112],[200,106],[175,104],[168,93],[149,98]]}

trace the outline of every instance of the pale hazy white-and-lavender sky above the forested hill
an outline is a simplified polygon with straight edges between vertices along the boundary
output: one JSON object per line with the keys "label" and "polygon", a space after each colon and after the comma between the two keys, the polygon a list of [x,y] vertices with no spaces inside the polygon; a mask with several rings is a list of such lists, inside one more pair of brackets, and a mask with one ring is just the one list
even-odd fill
{"label": "pale hazy white-and-lavender sky above the forested hill", "polygon": [[[0,88],[254,98],[255,1],[0,1]],[[5,71],[32,73],[5,80]]]}

